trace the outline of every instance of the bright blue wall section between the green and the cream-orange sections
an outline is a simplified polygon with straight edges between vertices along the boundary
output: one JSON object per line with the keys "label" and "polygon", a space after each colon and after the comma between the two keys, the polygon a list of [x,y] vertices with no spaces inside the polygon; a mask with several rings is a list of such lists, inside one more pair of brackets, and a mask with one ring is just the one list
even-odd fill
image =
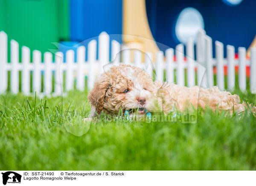
{"label": "bright blue wall section between the green and the cream-orange sections", "polygon": [[[122,34],[122,0],[71,0],[70,22],[72,41],[81,42],[103,31]],[[122,41],[121,36],[113,38]]]}

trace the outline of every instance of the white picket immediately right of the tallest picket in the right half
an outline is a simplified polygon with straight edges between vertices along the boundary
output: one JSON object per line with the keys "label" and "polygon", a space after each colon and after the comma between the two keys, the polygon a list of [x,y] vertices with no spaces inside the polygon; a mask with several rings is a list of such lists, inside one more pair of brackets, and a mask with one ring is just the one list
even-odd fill
{"label": "white picket immediately right of the tallest picket in the right half", "polygon": [[212,87],[213,84],[213,66],[212,66],[212,38],[206,36],[206,73],[207,73],[207,85]]}

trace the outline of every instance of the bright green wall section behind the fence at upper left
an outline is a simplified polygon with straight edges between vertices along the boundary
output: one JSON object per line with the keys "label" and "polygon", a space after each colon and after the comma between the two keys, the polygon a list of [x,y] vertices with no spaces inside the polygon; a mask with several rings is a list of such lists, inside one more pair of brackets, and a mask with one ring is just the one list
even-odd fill
{"label": "bright green wall section behind the fence at upper left", "polygon": [[[0,30],[20,46],[46,52],[67,39],[68,0],[0,0]],[[60,16],[61,14],[61,16]]]}

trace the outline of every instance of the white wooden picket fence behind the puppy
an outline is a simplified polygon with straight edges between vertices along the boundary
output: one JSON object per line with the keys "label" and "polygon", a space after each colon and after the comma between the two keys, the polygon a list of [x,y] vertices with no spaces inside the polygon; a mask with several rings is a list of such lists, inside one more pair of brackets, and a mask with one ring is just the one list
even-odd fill
{"label": "white wooden picket fence behind the puppy", "polygon": [[[32,52],[32,62],[30,61],[30,49],[26,46],[21,48],[21,61],[19,61],[19,44],[15,40],[11,40],[11,61],[7,62],[7,35],[0,32],[0,94],[7,89],[8,76],[10,71],[10,90],[12,93],[19,92],[19,71],[21,71],[21,92],[29,95],[36,91],[42,95],[61,95],[63,93],[63,85],[65,91],[74,88],[76,80],[76,88],[85,89],[85,81],[87,87],[91,89],[93,83],[99,73],[103,72],[103,65],[113,61],[111,65],[132,64],[145,69],[151,76],[153,68],[151,66],[152,54],[150,52],[142,53],[138,50],[134,51],[134,60],[131,61],[131,49],[121,46],[117,41],[111,41],[111,60],[109,58],[109,35],[102,32],[99,35],[98,59],[97,42],[90,41],[87,47],[87,61],[85,60],[85,47],[77,48],[77,57],[74,57],[74,51],[66,52],[66,61],[63,61],[63,53],[55,53],[55,61],[52,59],[51,52],[45,52],[43,62],[41,61],[41,52],[34,50]],[[197,44],[194,51],[194,42],[192,39],[186,44],[186,55],[184,55],[184,46],[179,44],[175,49],[169,48],[165,51],[156,53],[156,60],[153,62],[156,80],[164,81],[164,70],[166,71],[166,81],[174,82],[175,76],[177,84],[192,87],[195,85],[195,76],[197,76],[197,84],[202,87],[214,86],[213,67],[217,67],[217,85],[224,90],[224,65],[228,67],[227,82],[228,90],[232,90],[235,86],[235,65],[239,65],[239,87],[246,90],[246,65],[250,66],[250,90],[256,92],[256,48],[251,49],[251,58],[246,58],[246,49],[239,47],[239,59],[235,58],[235,48],[227,45],[227,58],[224,58],[224,46],[221,42],[215,41],[215,58],[212,58],[212,39],[206,35],[204,30],[198,32]],[[120,52],[121,51],[121,52]],[[196,61],[194,54],[196,54]],[[142,61],[142,55],[145,60]],[[176,60],[174,58],[176,57]],[[186,56],[186,61],[184,60]],[[76,62],[75,62],[76,61]],[[197,70],[195,70],[197,68]],[[185,70],[186,69],[186,70]],[[32,90],[30,90],[30,73],[32,71]],[[52,72],[55,72],[54,92],[52,92]],[[176,73],[175,73],[176,71]],[[43,72],[43,76],[42,76]],[[64,72],[65,82],[64,80]],[[185,78],[185,73],[186,77]],[[43,77],[44,87],[41,87],[41,77]],[[87,77],[87,78],[86,78]]]}

